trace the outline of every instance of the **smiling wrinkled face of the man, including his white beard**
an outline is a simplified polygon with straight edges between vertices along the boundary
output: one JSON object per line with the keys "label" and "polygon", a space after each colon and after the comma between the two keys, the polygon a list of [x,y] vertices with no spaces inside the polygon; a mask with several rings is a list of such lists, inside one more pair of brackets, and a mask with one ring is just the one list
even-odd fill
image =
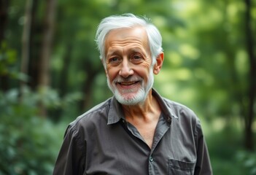
{"label": "smiling wrinkled face of the man, including his white beard", "polygon": [[144,28],[120,28],[106,36],[106,77],[120,104],[143,103],[152,88],[152,58]]}

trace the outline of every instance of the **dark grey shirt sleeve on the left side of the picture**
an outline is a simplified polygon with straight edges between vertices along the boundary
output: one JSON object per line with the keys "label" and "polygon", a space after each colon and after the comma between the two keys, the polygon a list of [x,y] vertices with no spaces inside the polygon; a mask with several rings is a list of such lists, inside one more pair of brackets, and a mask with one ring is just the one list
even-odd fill
{"label": "dark grey shirt sleeve on the left side of the picture", "polygon": [[53,175],[82,175],[85,170],[85,147],[85,142],[80,139],[78,131],[69,125]]}

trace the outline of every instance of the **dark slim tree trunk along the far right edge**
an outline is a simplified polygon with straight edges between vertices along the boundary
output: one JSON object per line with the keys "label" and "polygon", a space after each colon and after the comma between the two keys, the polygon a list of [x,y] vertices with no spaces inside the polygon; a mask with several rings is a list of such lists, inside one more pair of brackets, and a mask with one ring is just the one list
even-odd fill
{"label": "dark slim tree trunk along the far right edge", "polygon": [[252,31],[252,17],[251,17],[251,0],[245,0],[246,12],[245,12],[245,34],[247,39],[247,52],[249,56],[249,106],[247,117],[245,121],[245,147],[253,151],[254,150],[254,140],[252,123],[254,120],[254,104],[255,104],[255,94],[256,94],[256,58],[255,58],[255,43],[253,41],[254,35]]}

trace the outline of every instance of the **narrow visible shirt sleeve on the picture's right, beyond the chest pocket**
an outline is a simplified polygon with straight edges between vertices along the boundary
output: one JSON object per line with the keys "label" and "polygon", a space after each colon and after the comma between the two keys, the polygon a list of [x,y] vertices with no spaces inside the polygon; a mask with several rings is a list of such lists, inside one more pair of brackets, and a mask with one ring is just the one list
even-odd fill
{"label": "narrow visible shirt sleeve on the picture's right, beyond the chest pocket", "polygon": [[199,121],[197,123],[197,133],[197,161],[195,164],[195,175],[212,175],[212,166],[209,158],[209,152]]}

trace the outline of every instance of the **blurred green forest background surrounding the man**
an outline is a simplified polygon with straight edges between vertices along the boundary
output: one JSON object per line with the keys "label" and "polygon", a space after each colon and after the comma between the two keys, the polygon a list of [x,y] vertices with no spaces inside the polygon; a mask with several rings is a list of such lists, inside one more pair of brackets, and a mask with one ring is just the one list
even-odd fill
{"label": "blurred green forest background surrounding the man", "polygon": [[160,29],[154,87],[198,114],[214,174],[256,174],[255,0],[0,0],[0,174],[52,174],[66,126],[112,96],[98,23],[127,12]]}

